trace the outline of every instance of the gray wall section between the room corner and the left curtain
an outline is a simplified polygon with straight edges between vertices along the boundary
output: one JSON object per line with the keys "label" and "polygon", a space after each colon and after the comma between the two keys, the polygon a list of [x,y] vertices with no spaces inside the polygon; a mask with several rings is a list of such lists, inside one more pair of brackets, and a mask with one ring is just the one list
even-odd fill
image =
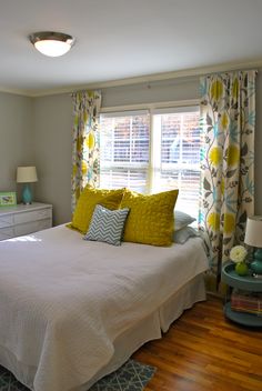
{"label": "gray wall section between the room corner and the left curtain", "polygon": [[71,96],[34,99],[34,151],[39,181],[36,197],[52,203],[53,223],[71,220]]}

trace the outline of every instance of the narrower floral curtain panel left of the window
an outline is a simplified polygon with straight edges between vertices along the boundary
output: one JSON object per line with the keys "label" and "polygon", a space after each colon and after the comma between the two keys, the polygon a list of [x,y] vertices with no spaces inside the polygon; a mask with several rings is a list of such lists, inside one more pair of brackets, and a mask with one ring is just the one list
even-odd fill
{"label": "narrower floral curtain panel left of the window", "polygon": [[72,147],[72,211],[87,183],[99,183],[99,112],[101,94],[83,91],[72,94],[73,147]]}

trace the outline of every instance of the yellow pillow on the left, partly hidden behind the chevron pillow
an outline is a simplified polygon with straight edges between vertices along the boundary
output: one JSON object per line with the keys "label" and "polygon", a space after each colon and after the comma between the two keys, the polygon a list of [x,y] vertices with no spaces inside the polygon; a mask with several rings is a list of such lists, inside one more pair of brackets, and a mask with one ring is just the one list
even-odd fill
{"label": "yellow pillow on the left, partly hidden behind the chevron pillow", "polygon": [[118,209],[123,192],[124,189],[102,190],[94,189],[90,184],[87,184],[79,197],[72,222],[68,224],[68,227],[81,233],[87,233],[95,205],[99,203],[110,210]]}

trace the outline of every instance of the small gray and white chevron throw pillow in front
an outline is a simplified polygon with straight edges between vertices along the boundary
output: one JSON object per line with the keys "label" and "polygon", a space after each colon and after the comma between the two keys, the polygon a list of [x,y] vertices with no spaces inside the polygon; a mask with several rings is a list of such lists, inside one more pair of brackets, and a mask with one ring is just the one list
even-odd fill
{"label": "small gray and white chevron throw pillow in front", "polygon": [[84,240],[120,245],[129,209],[109,210],[97,205]]}

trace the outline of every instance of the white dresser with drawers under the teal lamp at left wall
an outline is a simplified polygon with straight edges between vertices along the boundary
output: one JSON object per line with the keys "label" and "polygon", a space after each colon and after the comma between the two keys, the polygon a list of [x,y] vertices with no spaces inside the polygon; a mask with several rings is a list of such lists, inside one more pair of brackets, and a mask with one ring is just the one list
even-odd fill
{"label": "white dresser with drawers under the teal lamp at left wall", "polygon": [[0,208],[0,240],[21,237],[51,227],[51,204],[33,202],[30,205]]}

